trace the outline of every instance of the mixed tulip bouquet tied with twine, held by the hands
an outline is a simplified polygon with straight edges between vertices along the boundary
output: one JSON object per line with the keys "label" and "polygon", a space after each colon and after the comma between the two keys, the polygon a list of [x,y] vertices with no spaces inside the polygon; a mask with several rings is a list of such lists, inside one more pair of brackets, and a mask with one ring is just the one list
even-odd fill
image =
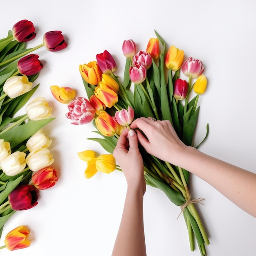
{"label": "mixed tulip bouquet tied with twine, held by the hands", "polygon": [[[202,74],[204,65],[192,57],[184,61],[184,51],[174,45],[166,52],[164,40],[156,31],[155,34],[157,37],[149,40],[146,51],[137,51],[133,40],[124,41],[122,49],[126,65],[123,81],[114,74],[117,65],[106,50],[96,55],[97,61],[79,66],[88,99],[78,97],[71,101],[66,117],[72,124],[92,121],[97,128],[95,132],[101,137],[89,139],[97,141],[110,153],[100,156],[92,150],[79,153],[79,158],[87,162],[86,178],[97,171],[110,173],[120,169],[112,152],[120,132],[138,117],[171,121],[180,139],[193,146],[200,110],[198,98],[207,86],[207,79]],[[180,78],[181,70],[188,81]],[[193,93],[195,96],[191,99]],[[208,124],[203,141],[207,135]],[[192,198],[189,172],[148,154],[143,148],[140,152],[144,159],[146,183],[161,189],[171,202],[182,208],[191,251],[195,248],[195,238],[201,255],[205,256],[205,245],[209,240],[194,206],[203,198]]]}

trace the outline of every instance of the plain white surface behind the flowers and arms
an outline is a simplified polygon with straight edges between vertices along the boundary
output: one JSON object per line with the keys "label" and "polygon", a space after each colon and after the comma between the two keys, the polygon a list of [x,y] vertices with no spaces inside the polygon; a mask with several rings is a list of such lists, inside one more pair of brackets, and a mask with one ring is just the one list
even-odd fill
{"label": "plain white surface behind the flowers and arms", "polygon": [[[54,121],[43,128],[53,140],[54,168],[59,181],[51,189],[40,191],[38,205],[17,212],[4,226],[0,245],[11,229],[25,225],[31,234],[31,246],[0,255],[110,256],[121,219],[126,181],[121,172],[97,173],[90,180],[83,176],[86,163],[77,152],[96,150],[106,153],[97,142],[91,124],[74,126],[65,117],[67,105],[59,103],[50,85],[69,86],[76,95],[86,97],[79,65],[96,60],[107,49],[115,58],[122,76],[125,58],[122,43],[132,39],[145,50],[154,29],[167,47],[183,49],[185,58],[199,58],[208,79],[206,93],[200,97],[200,117],[195,144],[209,137],[200,148],[204,153],[256,172],[255,161],[255,68],[256,3],[253,0],[72,0],[1,3],[0,38],[22,19],[31,20],[36,38],[27,44],[42,42],[43,34],[61,30],[68,47],[61,52],[36,52],[44,64],[33,97],[42,96],[52,106]],[[25,110],[21,111],[24,114]],[[229,186],[229,184],[227,184]],[[255,218],[227,200],[216,189],[191,175],[190,190],[197,205],[210,245],[209,256],[255,255]],[[148,256],[200,256],[196,246],[190,252],[186,225],[180,208],[158,189],[147,186],[144,196],[144,225]]]}

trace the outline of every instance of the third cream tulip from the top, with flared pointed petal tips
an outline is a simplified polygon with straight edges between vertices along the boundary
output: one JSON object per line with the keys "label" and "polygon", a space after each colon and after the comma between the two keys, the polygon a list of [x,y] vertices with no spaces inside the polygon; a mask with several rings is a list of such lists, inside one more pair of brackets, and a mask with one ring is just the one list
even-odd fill
{"label": "third cream tulip from the top, with flared pointed petal tips", "polygon": [[40,129],[27,140],[26,146],[29,152],[32,152],[38,148],[48,148],[51,144],[52,140]]}

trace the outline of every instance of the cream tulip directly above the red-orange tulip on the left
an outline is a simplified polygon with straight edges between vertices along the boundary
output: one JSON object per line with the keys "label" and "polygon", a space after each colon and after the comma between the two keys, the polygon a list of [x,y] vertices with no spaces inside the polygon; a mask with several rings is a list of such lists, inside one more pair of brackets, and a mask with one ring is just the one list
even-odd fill
{"label": "cream tulip directly above the red-orange tulip on the left", "polygon": [[38,148],[27,155],[26,162],[31,171],[39,171],[51,165],[54,159],[48,148]]}

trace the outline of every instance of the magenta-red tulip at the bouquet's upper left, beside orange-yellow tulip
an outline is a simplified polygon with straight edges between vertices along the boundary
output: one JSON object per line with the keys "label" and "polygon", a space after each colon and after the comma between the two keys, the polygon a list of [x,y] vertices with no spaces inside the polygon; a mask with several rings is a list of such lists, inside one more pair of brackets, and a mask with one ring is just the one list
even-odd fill
{"label": "magenta-red tulip at the bouquet's upper left, beside orange-yellow tulip", "polygon": [[103,74],[111,74],[117,70],[117,64],[115,63],[112,55],[107,50],[101,54],[97,54],[96,59]]}

